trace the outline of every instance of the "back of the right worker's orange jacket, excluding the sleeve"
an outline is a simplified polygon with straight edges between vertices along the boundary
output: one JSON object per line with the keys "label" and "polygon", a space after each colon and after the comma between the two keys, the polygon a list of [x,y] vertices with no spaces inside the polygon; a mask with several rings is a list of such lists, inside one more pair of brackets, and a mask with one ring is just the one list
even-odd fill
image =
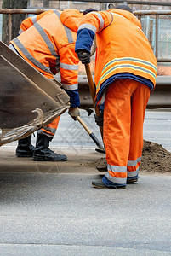
{"label": "back of the right worker's orange jacket, excluding the sleeve", "polygon": [[111,24],[96,34],[96,84],[116,73],[133,73],[155,84],[157,61],[140,21],[125,10],[110,13]]}

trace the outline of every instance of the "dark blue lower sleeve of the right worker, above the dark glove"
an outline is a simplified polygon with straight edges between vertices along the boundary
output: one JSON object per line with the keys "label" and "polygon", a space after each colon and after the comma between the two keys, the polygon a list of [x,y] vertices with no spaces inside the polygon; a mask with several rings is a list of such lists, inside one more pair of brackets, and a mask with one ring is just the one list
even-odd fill
{"label": "dark blue lower sleeve of the right worker, above the dark glove", "polygon": [[94,41],[94,36],[95,36],[95,33],[88,28],[83,28],[83,29],[78,30],[77,41],[76,41],[76,46],[75,46],[76,53],[80,49],[85,49],[90,54],[91,46]]}

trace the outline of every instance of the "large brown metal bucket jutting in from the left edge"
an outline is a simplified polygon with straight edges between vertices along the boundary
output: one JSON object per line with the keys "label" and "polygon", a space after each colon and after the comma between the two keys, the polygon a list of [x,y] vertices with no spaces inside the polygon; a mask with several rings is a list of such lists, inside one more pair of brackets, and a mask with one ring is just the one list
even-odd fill
{"label": "large brown metal bucket jutting in from the left edge", "polygon": [[69,108],[60,83],[46,79],[0,42],[0,146],[48,125]]}

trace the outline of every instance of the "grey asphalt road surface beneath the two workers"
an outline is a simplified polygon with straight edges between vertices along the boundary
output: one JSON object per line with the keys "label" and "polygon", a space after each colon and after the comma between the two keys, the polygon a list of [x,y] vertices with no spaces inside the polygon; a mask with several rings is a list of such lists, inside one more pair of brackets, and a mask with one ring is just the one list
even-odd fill
{"label": "grey asphalt road surface beneath the two workers", "polygon": [[[82,114],[100,137],[94,117]],[[94,154],[94,143],[66,119],[60,119],[52,147],[70,152],[67,170],[61,163],[53,165],[56,172],[41,172],[35,163],[14,159],[16,143],[0,148],[9,154],[8,168],[3,164],[0,172],[0,255],[171,255],[171,175],[141,173],[127,189],[92,188],[100,172],[81,163],[87,152]],[[145,139],[169,150],[170,125],[170,112],[146,112]]]}

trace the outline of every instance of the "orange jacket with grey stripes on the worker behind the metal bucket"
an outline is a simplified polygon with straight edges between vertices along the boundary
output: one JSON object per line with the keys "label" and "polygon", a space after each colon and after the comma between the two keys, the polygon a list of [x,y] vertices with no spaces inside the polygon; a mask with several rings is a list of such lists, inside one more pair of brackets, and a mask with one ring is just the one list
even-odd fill
{"label": "orange jacket with grey stripes on the worker behind the metal bucket", "polygon": [[[77,90],[79,61],[75,53],[75,42],[82,17],[76,9],[66,9],[62,13],[58,10],[48,11],[10,43],[31,66],[48,79],[60,71],[63,88]],[[72,104],[72,107],[77,106]]]}

